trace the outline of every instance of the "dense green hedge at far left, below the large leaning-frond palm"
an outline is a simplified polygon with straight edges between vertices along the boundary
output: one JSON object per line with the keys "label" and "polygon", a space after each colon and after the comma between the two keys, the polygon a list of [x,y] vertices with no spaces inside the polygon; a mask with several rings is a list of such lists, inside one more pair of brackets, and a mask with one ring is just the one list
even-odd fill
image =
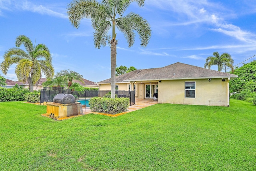
{"label": "dense green hedge at far left, below the large leaning-frond palm", "polygon": [[1,101],[23,101],[24,94],[30,92],[29,89],[23,88],[5,88],[0,87],[0,102]]}

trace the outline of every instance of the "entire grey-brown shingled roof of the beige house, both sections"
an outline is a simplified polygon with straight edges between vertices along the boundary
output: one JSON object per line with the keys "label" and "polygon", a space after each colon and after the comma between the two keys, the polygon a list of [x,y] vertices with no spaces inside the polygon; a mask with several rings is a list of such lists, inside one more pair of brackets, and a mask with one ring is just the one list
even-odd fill
{"label": "entire grey-brown shingled roof of the beige house, both sections", "polygon": [[[116,83],[130,81],[154,81],[154,80],[186,80],[206,78],[236,78],[238,76],[230,73],[219,72],[188,64],[177,62],[162,68],[151,68],[135,70],[116,76]],[[111,78],[98,82],[97,84],[111,83]]]}

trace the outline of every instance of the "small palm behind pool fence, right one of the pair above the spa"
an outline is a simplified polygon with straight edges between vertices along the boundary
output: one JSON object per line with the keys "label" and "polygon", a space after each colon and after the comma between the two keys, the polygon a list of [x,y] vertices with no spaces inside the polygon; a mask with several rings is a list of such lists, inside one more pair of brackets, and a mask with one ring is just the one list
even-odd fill
{"label": "small palm behind pool fence, right one of the pair above the spa", "polygon": [[[69,70],[69,69],[68,69]],[[78,74],[77,72],[69,70],[60,71],[60,76],[63,76],[63,79],[68,81],[68,88],[73,84],[73,80],[79,80],[84,83],[83,76]]]}

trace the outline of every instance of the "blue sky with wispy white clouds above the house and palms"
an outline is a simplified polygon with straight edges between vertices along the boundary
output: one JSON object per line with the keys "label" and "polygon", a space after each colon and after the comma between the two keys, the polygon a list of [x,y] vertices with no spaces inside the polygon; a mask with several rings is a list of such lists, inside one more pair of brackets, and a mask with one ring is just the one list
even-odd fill
{"label": "blue sky with wispy white clouds above the house and palms", "polygon": [[[78,29],[71,25],[66,13],[70,2],[0,0],[0,63],[23,34],[48,46],[55,73],[70,69],[93,82],[110,78],[110,47],[94,48],[89,19],[81,20]],[[133,3],[130,11],[148,20],[152,36],[146,48],[140,47],[138,37],[128,48],[117,30],[117,66],[144,69],[182,62],[204,67],[205,59],[216,51],[229,53],[234,65],[256,60],[250,58],[256,54],[255,0],[145,0],[144,7]],[[15,67],[0,75],[17,81]]]}

